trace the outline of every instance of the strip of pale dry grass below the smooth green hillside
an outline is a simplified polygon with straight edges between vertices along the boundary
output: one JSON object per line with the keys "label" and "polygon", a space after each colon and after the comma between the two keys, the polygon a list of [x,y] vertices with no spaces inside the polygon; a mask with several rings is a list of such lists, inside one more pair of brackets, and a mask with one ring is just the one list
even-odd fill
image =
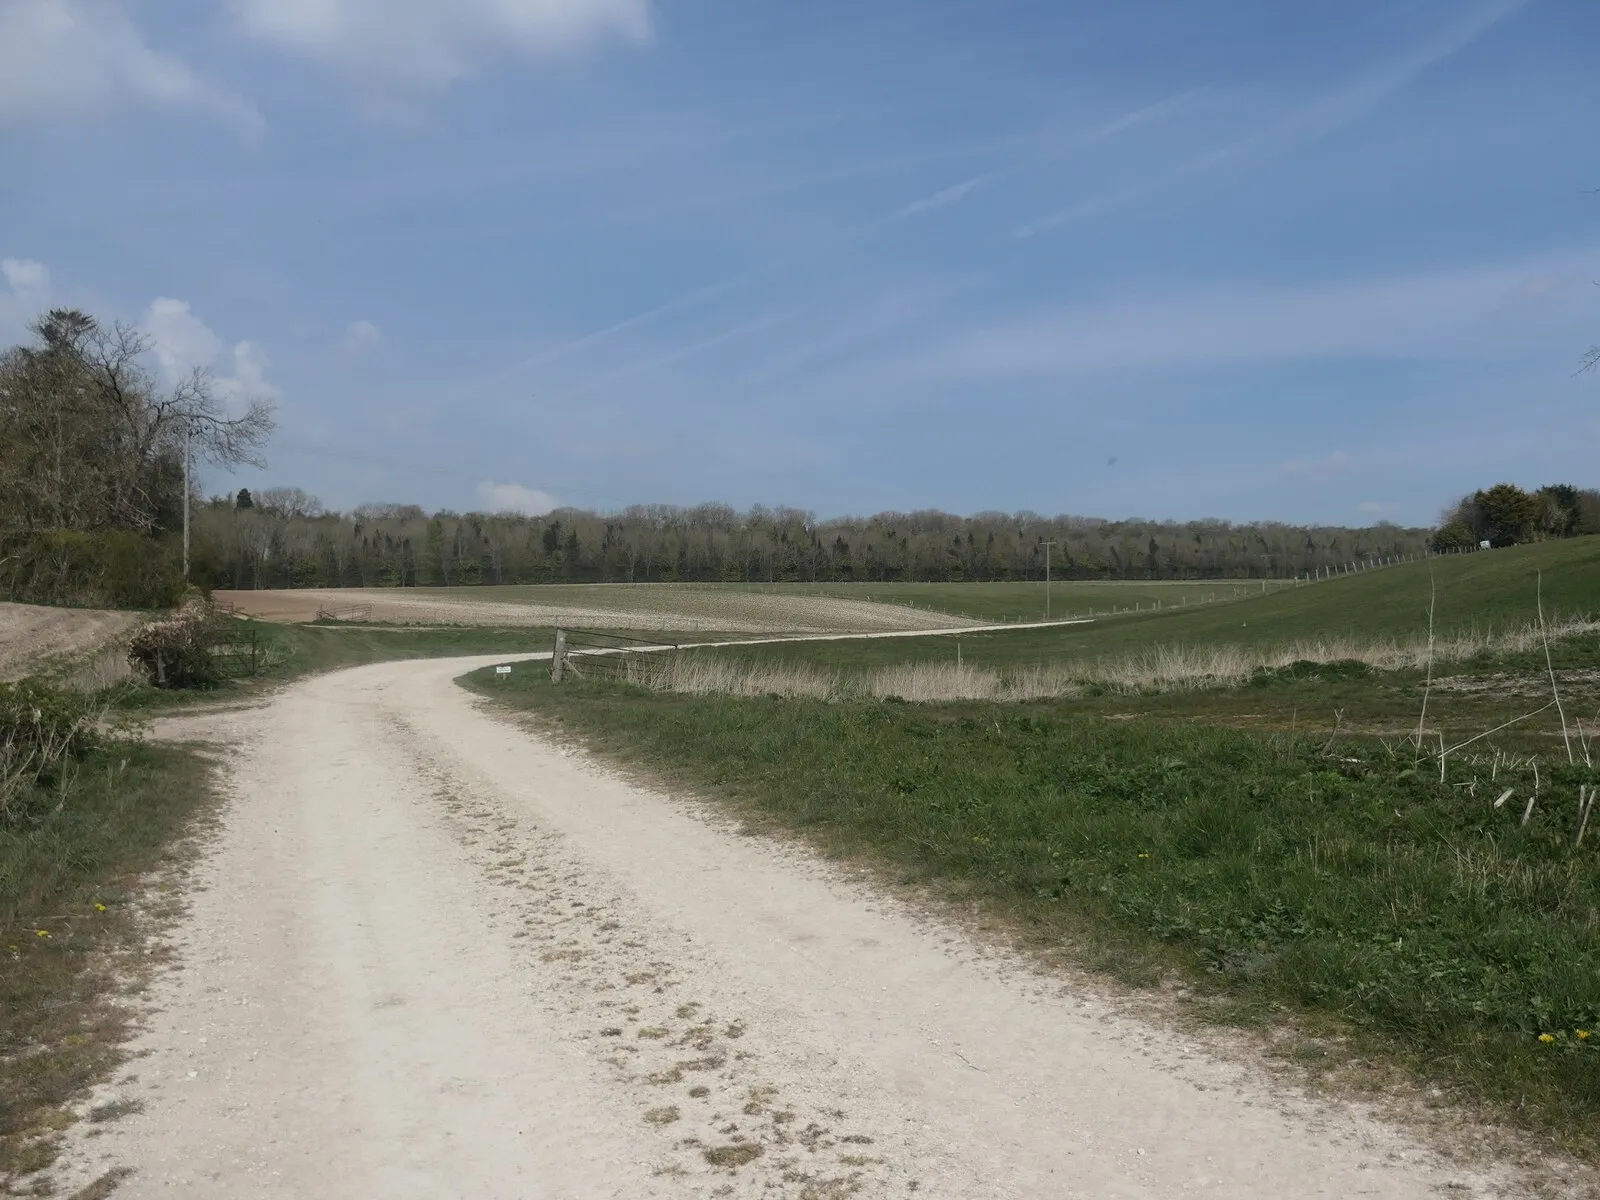
{"label": "strip of pale dry grass below the smooth green hillside", "polygon": [[[1600,632],[1600,621],[1574,618],[1552,637]],[[1434,642],[1434,662],[1462,662],[1480,654],[1518,653],[1541,645],[1538,624],[1494,632],[1456,634]],[[1365,662],[1378,670],[1421,669],[1427,642],[1317,638],[1278,646],[1150,646],[1136,654],[1027,667],[990,669],[957,662],[902,662],[866,672],[830,670],[806,662],[730,659],[714,651],[630,656],[624,678],[651,691],[720,696],[790,696],[806,699],[899,698],[912,702],[1029,701],[1078,696],[1090,688],[1130,694],[1227,688],[1266,667],[1291,662]]]}

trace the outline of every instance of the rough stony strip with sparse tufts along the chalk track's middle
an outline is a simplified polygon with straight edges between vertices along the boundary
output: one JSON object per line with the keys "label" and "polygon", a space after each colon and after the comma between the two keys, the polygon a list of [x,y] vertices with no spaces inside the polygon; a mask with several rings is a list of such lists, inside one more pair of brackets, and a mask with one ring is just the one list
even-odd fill
{"label": "rough stony strip with sparse tufts along the chalk track's middle", "polygon": [[[400,752],[427,741],[403,718],[390,726]],[[506,894],[512,938],[544,976],[547,1010],[573,1022],[656,1133],[656,1174],[706,1184],[696,1194],[709,1195],[917,1190],[904,1165],[850,1123],[840,1098],[781,1083],[768,1066],[781,1058],[770,1043],[781,1030],[752,1030],[736,1000],[706,998],[704,978],[685,970],[693,939],[662,931],[563,838],[496,803],[443,755],[421,758],[419,774],[474,866]]]}

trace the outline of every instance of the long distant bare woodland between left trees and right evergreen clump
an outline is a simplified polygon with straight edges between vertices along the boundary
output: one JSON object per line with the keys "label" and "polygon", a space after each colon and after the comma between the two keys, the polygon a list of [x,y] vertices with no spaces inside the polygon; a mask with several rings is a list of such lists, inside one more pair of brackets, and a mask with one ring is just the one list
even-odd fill
{"label": "long distant bare woodland between left trees and right evergreen clump", "polygon": [[[197,515],[216,587],[531,582],[778,582],[1283,578],[1421,554],[1427,530],[1227,522],[1106,522],[1032,512],[883,512],[638,506],[546,517],[424,514],[371,504],[325,514],[299,491],[214,499]],[[198,566],[198,563],[197,563]]]}

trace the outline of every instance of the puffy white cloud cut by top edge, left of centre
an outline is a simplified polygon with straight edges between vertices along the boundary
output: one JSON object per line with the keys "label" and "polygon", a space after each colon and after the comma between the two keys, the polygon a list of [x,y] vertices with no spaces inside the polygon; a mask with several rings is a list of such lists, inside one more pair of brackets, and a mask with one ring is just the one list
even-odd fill
{"label": "puffy white cloud cut by top edge, left of centre", "polygon": [[651,0],[234,0],[238,29],[365,83],[443,88],[499,54],[645,42]]}

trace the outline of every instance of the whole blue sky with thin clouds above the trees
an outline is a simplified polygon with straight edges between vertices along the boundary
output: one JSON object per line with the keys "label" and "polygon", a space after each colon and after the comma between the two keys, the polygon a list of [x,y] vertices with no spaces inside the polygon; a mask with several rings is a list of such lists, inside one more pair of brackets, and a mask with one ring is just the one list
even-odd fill
{"label": "whole blue sky with thin clouds above the trees", "polygon": [[333,506],[1600,485],[1589,0],[0,0],[0,339]]}

